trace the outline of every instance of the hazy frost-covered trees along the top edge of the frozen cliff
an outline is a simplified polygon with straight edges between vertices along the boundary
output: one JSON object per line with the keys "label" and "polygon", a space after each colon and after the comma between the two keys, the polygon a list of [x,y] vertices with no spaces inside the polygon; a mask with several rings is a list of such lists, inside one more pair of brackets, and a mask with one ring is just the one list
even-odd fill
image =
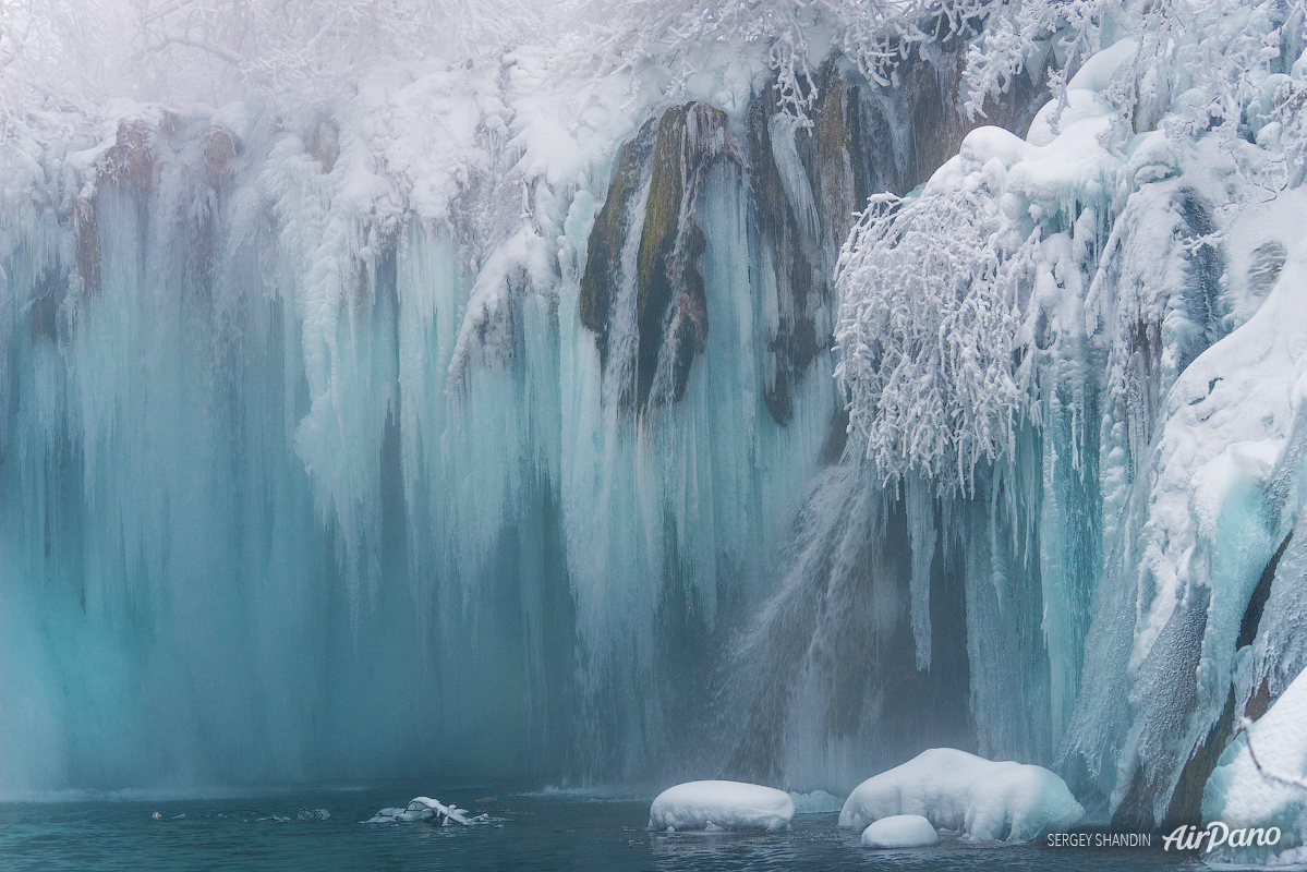
{"label": "hazy frost-covered trees along the top edge of the frozen cliff", "polygon": [[[0,0],[0,109],[21,92],[73,101],[254,94],[315,102],[378,63],[546,50],[557,76],[659,67],[665,92],[723,43],[755,46],[782,105],[804,116],[831,50],[890,84],[914,44],[975,29],[1001,0]],[[89,69],[94,59],[95,69]],[[192,93],[196,92],[196,93]],[[34,95],[35,94],[35,95]]]}

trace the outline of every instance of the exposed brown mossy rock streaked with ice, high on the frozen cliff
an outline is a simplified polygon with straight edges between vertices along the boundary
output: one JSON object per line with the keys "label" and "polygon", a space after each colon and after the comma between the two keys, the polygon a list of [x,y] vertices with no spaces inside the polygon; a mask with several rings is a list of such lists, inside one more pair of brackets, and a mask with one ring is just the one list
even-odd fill
{"label": "exposed brown mossy rock streaked with ice, high on the frozen cliff", "polygon": [[[606,366],[622,322],[614,306],[622,282],[634,280],[630,401],[637,408],[651,394],[655,404],[680,400],[703,350],[708,320],[697,207],[704,179],[724,161],[746,179],[753,267],[775,294],[763,400],[778,424],[791,421],[797,382],[831,345],[830,280],[853,213],[872,193],[904,193],[924,182],[978,124],[1025,129],[1046,98],[1022,76],[1012,94],[987,106],[988,116],[965,119],[955,93],[962,48],[945,47],[933,63],[910,54],[902,84],[889,93],[831,59],[813,78],[806,118],[787,114],[775,89],[766,89],[750,103],[742,131],[718,109],[685,103],[646,122],[622,146],[591,230],[579,307]],[[904,129],[931,132],[903,136]],[[625,263],[631,252],[634,263]]]}

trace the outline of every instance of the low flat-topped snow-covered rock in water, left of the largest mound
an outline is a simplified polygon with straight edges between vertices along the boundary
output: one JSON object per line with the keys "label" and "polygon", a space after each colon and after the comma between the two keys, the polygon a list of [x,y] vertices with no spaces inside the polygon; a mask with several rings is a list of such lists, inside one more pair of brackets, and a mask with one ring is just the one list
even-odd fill
{"label": "low flat-topped snow-covered rock in water, left of the largest mound", "polygon": [[795,816],[783,790],[742,782],[689,782],[668,787],[650,807],[650,829],[779,830]]}

